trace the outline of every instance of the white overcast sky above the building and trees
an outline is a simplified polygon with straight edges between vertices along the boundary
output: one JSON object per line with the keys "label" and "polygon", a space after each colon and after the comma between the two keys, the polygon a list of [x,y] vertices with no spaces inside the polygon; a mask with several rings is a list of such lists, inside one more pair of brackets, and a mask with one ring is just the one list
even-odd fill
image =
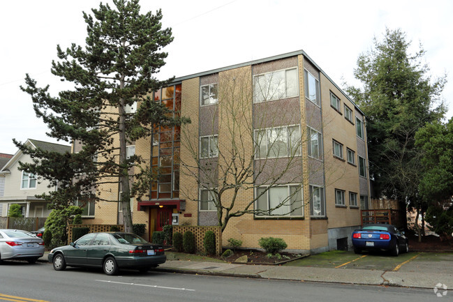
{"label": "white overcast sky above the building and trees", "polygon": [[[106,1],[103,1],[106,2]],[[63,86],[50,73],[56,46],[84,45],[82,11],[98,7],[94,0],[16,0],[2,2],[0,18],[0,153],[14,154],[13,138],[56,142],[36,118],[31,98],[20,90],[25,73],[50,84],[52,93]],[[107,1],[110,3],[110,1]],[[453,1],[279,1],[142,0],[142,13],[158,8],[163,26],[172,27],[174,41],[165,48],[167,64],[161,80],[304,50],[329,77],[357,84],[357,57],[371,49],[385,27],[401,29],[422,43],[433,78],[447,74],[443,91],[453,115]],[[64,143],[64,142],[63,142]],[[66,143],[65,143],[66,144]]]}

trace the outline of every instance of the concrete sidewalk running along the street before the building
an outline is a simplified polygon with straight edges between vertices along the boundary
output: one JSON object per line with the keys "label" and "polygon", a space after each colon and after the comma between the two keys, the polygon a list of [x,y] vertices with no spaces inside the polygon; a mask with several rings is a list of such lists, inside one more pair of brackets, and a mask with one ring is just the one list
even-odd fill
{"label": "concrete sidewalk running along the street before the building", "polygon": [[[48,252],[38,261],[47,262]],[[411,266],[412,265],[412,266]],[[202,275],[223,275],[242,278],[265,278],[275,280],[295,280],[309,282],[333,282],[355,285],[385,285],[433,289],[436,285],[446,285],[453,289],[453,269],[439,271],[420,270],[420,263],[407,264],[399,271],[369,269],[327,269],[308,266],[269,266],[250,264],[230,264],[222,262],[193,262],[168,260],[154,269],[175,273],[198,273]],[[437,265],[453,266],[450,263]]]}

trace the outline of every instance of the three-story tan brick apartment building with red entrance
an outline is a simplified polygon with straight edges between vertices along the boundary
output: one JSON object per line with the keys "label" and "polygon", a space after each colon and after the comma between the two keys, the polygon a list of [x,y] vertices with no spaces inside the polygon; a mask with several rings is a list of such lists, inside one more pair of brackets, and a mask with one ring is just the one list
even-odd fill
{"label": "three-story tan brick apartment building with red entrance", "polygon": [[[239,73],[246,75],[245,80],[237,77]],[[364,113],[302,50],[179,77],[172,85],[155,91],[152,97],[191,118],[188,128],[195,133],[191,137],[195,152],[206,165],[215,166],[218,160],[224,160],[218,154],[228,153],[230,147],[231,137],[225,123],[232,116],[223,110],[220,97],[220,91],[227,90],[223,87],[227,82],[237,82],[235,96],[238,101],[246,100],[246,105],[238,110],[249,116],[253,133],[267,137],[258,139],[259,146],[255,148],[253,139],[242,144],[248,148],[249,156],[255,150],[254,169],[272,162],[278,170],[290,151],[296,154],[297,165],[289,172],[291,175],[279,182],[280,187],[262,195],[255,207],[271,209],[297,186],[302,186],[297,197],[304,206],[296,211],[280,208],[283,217],[248,214],[232,218],[222,235],[223,246],[228,245],[229,238],[235,238],[242,240],[244,248],[259,248],[258,240],[268,236],[282,238],[288,249],[302,252],[350,246],[350,234],[361,223],[360,209],[369,209]],[[258,123],[257,116],[266,116],[267,112],[273,113]],[[179,217],[180,225],[216,225],[217,213],[208,202],[209,194],[200,188],[193,175],[180,169],[179,158],[186,165],[195,166],[191,151],[181,143],[180,133],[179,127],[162,128],[154,137],[133,145],[135,153],[161,172],[160,181],[150,184],[147,199],[131,200],[133,222],[147,225],[148,238],[170,223],[172,215]],[[302,147],[292,150],[293,143],[301,138]],[[73,147],[77,151],[77,146]],[[266,173],[274,171],[270,170]],[[196,169],[194,174],[201,179]],[[262,183],[254,183],[254,190],[239,190],[238,204],[258,197],[267,184],[263,177],[257,176]],[[288,183],[289,177],[292,183]],[[105,199],[117,201],[119,192],[115,184],[103,186],[99,193]],[[118,205],[112,202],[98,202],[96,212],[93,210],[89,217],[85,223],[121,222]]]}

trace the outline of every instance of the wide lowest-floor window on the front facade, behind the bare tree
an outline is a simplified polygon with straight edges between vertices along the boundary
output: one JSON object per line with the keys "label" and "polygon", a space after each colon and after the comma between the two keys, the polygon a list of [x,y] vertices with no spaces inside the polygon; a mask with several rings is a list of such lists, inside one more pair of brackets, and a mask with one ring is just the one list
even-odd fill
{"label": "wide lowest-floor window on the front facade, behind the bare tree", "polygon": [[300,186],[260,187],[255,190],[257,216],[304,216]]}

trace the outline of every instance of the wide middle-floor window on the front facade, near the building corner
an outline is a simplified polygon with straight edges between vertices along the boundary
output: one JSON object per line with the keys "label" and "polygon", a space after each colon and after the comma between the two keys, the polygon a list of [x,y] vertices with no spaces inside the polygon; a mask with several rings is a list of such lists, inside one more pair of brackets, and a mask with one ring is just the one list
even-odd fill
{"label": "wide middle-floor window on the front facade, near the building corner", "polygon": [[283,126],[255,130],[257,150],[255,158],[300,156],[299,126]]}

